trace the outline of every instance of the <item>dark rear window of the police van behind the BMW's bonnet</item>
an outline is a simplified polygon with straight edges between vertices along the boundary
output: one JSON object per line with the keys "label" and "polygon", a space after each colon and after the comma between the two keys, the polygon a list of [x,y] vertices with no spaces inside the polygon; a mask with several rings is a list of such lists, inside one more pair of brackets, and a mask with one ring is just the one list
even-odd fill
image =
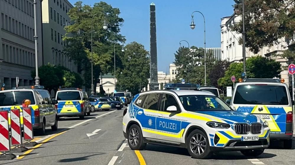
{"label": "dark rear window of the police van behind the BMW's bonnet", "polygon": [[239,85],[234,95],[234,104],[288,105],[285,86]]}

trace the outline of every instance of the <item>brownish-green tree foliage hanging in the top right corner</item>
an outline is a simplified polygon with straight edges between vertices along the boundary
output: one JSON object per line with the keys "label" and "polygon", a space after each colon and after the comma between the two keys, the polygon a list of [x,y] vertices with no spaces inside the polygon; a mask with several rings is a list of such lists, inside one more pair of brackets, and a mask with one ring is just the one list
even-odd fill
{"label": "brownish-green tree foliage hanging in the top right corner", "polygon": [[[234,7],[242,14],[242,1],[234,0]],[[245,46],[258,53],[264,46],[278,43],[278,39],[293,37],[295,31],[294,0],[245,1]],[[242,33],[242,21],[233,30]],[[239,39],[242,43],[242,38]]]}

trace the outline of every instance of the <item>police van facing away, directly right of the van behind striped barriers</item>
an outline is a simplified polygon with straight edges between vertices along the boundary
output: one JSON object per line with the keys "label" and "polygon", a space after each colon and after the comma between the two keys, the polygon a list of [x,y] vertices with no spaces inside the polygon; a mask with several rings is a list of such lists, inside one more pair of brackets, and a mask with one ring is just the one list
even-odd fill
{"label": "police van facing away, directly right of the van behind striped barriers", "polygon": [[90,102],[85,91],[79,88],[62,88],[56,92],[55,99],[57,116],[75,117],[79,116],[84,119],[84,116],[90,115]]}

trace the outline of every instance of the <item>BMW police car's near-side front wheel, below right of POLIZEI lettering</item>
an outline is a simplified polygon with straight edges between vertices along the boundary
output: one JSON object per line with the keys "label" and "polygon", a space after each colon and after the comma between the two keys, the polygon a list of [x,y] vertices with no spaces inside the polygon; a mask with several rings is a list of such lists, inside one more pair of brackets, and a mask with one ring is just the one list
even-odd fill
{"label": "BMW police car's near-side front wheel, below right of POLIZEI lettering", "polygon": [[193,130],[186,139],[188,153],[195,159],[208,159],[213,152],[210,150],[207,135],[201,130]]}

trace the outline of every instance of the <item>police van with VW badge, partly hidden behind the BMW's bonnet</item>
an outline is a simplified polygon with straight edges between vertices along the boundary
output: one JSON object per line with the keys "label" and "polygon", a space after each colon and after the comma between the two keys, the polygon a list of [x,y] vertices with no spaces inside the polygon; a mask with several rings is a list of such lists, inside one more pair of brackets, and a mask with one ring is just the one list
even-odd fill
{"label": "police van with VW badge, partly hidden behind the BMW's bonnet", "polygon": [[284,148],[291,149],[292,103],[283,79],[245,79],[236,84],[230,106],[237,112],[254,114],[266,120],[270,139],[281,140]]}

